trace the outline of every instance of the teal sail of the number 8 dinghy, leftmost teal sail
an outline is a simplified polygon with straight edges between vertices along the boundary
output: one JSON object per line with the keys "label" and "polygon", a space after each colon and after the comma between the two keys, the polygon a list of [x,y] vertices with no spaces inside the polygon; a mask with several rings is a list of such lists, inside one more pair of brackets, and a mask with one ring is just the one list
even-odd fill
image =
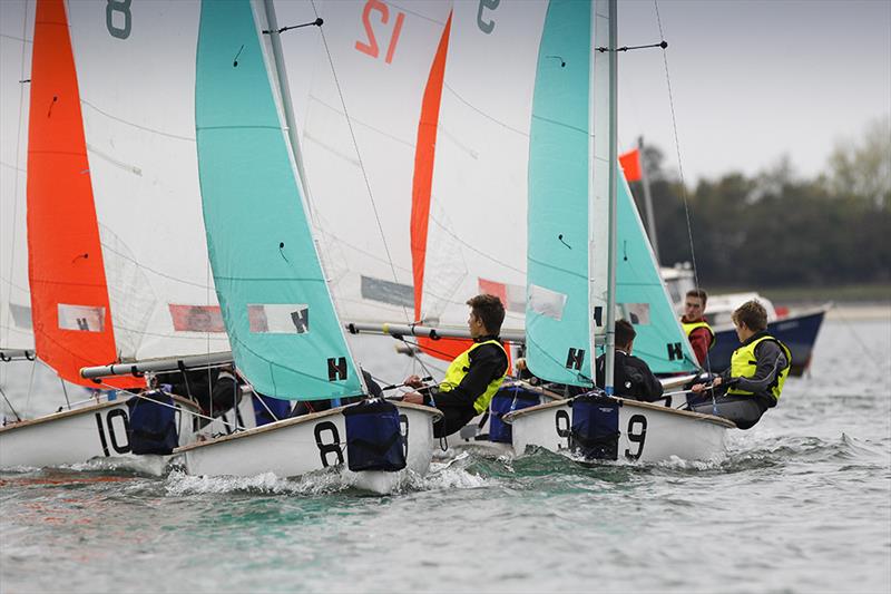
{"label": "teal sail of the number 8 dinghy, leftmost teal sail", "polygon": [[315,252],[248,0],[202,4],[195,85],[207,246],[236,366],[291,400],[363,391]]}

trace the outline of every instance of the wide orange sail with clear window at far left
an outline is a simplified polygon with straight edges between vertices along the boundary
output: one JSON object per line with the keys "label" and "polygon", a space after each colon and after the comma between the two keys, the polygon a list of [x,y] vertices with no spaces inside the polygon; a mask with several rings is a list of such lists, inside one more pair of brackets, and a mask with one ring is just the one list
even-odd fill
{"label": "wide orange sail with clear window at far left", "polygon": [[[70,382],[117,361],[62,0],[39,0],[28,128],[28,275],[38,357]],[[117,388],[145,386],[119,378]]]}

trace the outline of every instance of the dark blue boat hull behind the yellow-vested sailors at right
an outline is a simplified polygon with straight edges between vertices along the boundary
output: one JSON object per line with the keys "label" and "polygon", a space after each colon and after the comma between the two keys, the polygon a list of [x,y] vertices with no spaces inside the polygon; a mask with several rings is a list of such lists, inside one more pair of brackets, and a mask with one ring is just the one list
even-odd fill
{"label": "dark blue boat hull behind the yellow-vested sailors at right", "polygon": [[[826,310],[791,315],[767,324],[767,333],[779,339],[792,353],[790,376],[802,376],[811,364],[814,342]],[[715,345],[708,351],[712,370],[719,372],[731,367],[731,356],[740,347],[733,328],[715,329]]]}

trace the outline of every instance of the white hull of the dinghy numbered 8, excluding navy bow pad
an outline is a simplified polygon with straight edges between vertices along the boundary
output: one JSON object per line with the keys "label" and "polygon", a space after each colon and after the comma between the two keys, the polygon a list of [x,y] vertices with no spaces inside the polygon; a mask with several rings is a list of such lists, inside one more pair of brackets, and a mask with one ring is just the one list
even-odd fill
{"label": "white hull of the dinghy numbered 8, excluding navy bow pad", "polygon": [[256,429],[199,441],[179,448],[186,473],[202,476],[254,476],[273,473],[297,477],[330,467],[342,467],[356,487],[389,493],[410,470],[427,474],[433,455],[433,421],[440,412],[430,407],[395,402],[402,434],[407,438],[407,467],[396,473],[350,473],[346,421],[339,407],[323,412],[284,419]]}

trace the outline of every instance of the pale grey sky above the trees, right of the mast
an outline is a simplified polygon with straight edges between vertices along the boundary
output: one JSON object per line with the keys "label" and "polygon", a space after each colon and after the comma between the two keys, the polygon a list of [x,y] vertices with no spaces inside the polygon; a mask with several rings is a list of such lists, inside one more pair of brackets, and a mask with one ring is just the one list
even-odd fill
{"label": "pale grey sky above the trees, right of the mast", "polygon": [[[889,0],[660,0],[688,183],[787,155],[823,171],[835,143],[891,113]],[[659,41],[653,0],[619,1],[619,45]],[[619,55],[619,149],[637,136],[677,171],[660,49]]]}

